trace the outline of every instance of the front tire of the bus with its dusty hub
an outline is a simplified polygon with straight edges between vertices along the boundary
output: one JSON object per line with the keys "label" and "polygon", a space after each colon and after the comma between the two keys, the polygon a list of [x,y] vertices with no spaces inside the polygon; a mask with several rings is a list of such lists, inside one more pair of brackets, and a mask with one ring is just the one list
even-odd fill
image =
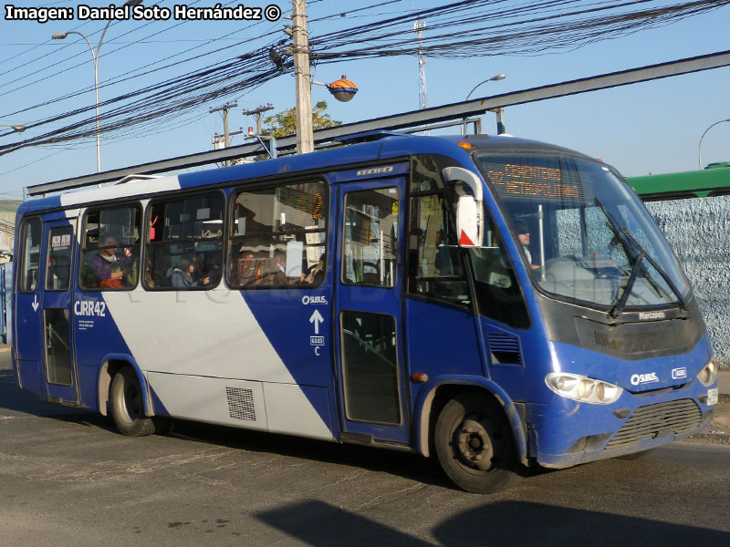
{"label": "front tire of the bus with its dusty hub", "polygon": [[492,494],[522,480],[512,431],[483,395],[467,393],[446,403],[436,420],[434,443],[442,469],[464,490]]}

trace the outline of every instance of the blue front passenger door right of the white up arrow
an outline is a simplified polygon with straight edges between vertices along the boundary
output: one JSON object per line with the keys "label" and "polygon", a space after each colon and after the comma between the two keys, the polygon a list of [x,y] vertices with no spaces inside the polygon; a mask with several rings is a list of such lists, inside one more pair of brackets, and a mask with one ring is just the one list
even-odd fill
{"label": "blue front passenger door right of the white up arrow", "polygon": [[343,439],[409,442],[402,346],[403,180],[339,188],[335,284]]}

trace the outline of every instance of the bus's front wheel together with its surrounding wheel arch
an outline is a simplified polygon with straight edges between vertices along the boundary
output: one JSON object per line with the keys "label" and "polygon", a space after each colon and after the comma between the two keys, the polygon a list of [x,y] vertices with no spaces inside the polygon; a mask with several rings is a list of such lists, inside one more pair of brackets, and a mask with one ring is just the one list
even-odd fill
{"label": "bus's front wheel together with its surrounding wheel arch", "polygon": [[504,402],[495,394],[483,387],[444,385],[425,402],[431,403],[422,416],[428,424],[428,453],[454,484],[476,493],[494,493],[522,479],[513,427]]}

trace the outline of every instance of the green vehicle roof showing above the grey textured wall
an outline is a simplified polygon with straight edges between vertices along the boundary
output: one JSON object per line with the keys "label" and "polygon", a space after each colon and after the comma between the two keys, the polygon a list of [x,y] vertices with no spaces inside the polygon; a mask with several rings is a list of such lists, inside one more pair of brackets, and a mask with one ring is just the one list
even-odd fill
{"label": "green vehicle roof showing above the grey textured wall", "polygon": [[705,197],[730,189],[730,163],[711,163],[704,170],[627,177],[642,198]]}

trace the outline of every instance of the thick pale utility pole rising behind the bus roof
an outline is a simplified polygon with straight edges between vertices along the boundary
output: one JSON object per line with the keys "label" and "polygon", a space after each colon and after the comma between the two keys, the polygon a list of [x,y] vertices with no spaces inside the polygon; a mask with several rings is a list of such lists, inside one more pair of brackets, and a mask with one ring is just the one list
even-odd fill
{"label": "thick pale utility pole rising behind the bus roof", "polygon": [[309,37],[305,0],[292,0],[292,35],[294,39],[294,82],[297,88],[295,108],[297,153],[306,154],[314,150],[314,135],[312,129],[312,75],[309,72]]}

